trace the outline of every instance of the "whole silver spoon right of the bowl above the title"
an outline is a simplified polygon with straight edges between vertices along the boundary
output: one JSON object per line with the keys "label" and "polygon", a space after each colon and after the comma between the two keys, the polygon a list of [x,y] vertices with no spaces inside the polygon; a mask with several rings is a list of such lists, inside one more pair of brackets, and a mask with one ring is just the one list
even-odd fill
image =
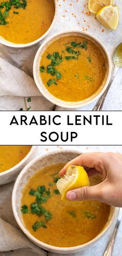
{"label": "whole silver spoon right of the bowl above the title", "polygon": [[101,111],[103,104],[104,104],[104,100],[106,98],[106,95],[109,92],[109,89],[113,83],[113,80],[116,76],[117,71],[119,70],[119,68],[122,67],[122,43],[119,44],[119,46],[116,48],[116,50],[114,51],[113,54],[113,62],[114,62],[114,72],[113,75],[111,77],[111,80],[108,84],[108,87],[105,89],[105,92],[102,94],[102,96],[100,97],[100,99],[98,100],[98,102],[96,103],[95,107],[93,108],[93,111]]}

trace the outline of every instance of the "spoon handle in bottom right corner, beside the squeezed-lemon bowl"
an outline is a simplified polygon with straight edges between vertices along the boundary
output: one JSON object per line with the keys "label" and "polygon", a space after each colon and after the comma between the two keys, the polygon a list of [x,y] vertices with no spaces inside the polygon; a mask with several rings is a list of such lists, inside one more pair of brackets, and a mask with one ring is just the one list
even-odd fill
{"label": "spoon handle in bottom right corner, beside the squeezed-lemon bowl", "polygon": [[118,216],[118,219],[116,221],[116,225],[115,225],[113,234],[110,238],[109,244],[107,245],[107,247],[104,251],[103,256],[112,256],[112,252],[113,252],[113,248],[114,248],[114,242],[115,242],[116,235],[117,235],[117,232],[118,232],[118,228],[119,228],[119,225],[120,225],[121,216],[122,216],[122,209],[119,210],[119,216]]}

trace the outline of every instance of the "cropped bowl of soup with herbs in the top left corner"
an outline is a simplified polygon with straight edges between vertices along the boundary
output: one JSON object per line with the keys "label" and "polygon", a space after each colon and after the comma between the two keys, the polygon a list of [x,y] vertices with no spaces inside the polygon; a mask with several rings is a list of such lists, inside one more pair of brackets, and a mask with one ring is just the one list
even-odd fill
{"label": "cropped bowl of soup with herbs in the top left corner", "polygon": [[50,33],[57,17],[57,1],[5,0],[0,11],[0,43],[14,48],[30,47]]}

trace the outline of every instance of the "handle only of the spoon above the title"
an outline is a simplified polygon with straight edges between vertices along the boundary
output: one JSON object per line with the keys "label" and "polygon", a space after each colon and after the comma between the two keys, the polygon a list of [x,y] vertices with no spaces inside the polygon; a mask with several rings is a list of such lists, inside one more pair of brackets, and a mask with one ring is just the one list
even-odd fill
{"label": "handle only of the spoon above the title", "polygon": [[119,67],[115,66],[114,72],[113,72],[113,75],[112,75],[112,77],[111,77],[111,80],[110,80],[110,82],[109,82],[109,84],[108,84],[108,87],[105,89],[104,93],[103,93],[102,96],[99,98],[98,102],[96,103],[96,105],[95,105],[95,107],[93,108],[92,111],[101,111],[101,110],[102,110],[102,107],[103,107],[103,104],[104,104],[104,100],[105,100],[105,98],[106,98],[106,95],[107,95],[108,92],[109,92],[109,89],[110,89],[110,87],[111,87],[111,85],[112,85],[112,83],[113,83],[113,80],[114,80],[114,78],[115,78],[115,76],[116,76],[116,73],[117,73],[118,69],[119,69]]}

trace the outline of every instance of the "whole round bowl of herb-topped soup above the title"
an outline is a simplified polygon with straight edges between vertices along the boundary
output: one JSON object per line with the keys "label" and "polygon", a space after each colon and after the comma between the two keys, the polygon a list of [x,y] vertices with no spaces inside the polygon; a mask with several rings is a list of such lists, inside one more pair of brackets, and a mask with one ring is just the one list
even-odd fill
{"label": "whole round bowl of herb-topped soup above the title", "polygon": [[111,62],[103,44],[83,32],[64,32],[45,41],[34,61],[40,92],[60,107],[82,107],[110,81]]}

